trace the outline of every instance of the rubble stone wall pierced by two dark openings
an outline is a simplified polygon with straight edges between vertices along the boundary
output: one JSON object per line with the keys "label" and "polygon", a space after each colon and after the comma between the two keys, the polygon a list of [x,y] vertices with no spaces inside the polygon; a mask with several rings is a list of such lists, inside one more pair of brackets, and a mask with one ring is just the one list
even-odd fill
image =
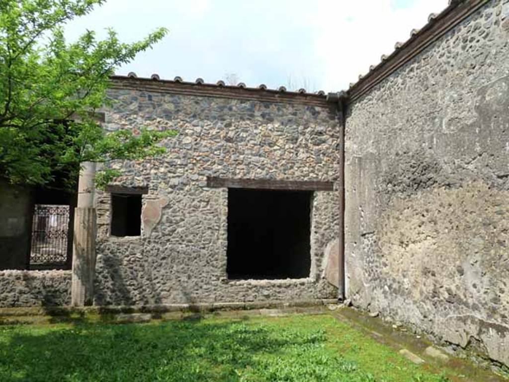
{"label": "rubble stone wall pierced by two dark openings", "polygon": [[[154,81],[152,81],[154,83]],[[337,238],[338,193],[315,192],[311,271],[297,280],[228,280],[228,190],[208,188],[207,176],[296,181],[337,181],[340,142],[336,110],[257,99],[263,91],[238,89],[252,99],[182,94],[183,85],[124,79],[112,89],[105,128],[176,129],[163,157],[115,163],[116,184],[148,186],[140,237],[112,237],[110,194],[98,193],[97,305],[213,303],[334,298],[324,279],[324,251]],[[127,84],[127,85],[126,85]],[[199,86],[196,86],[199,89]],[[230,90],[223,90],[225,95]],[[306,96],[295,95],[295,99]],[[313,97],[312,97],[313,98]],[[336,187],[337,188],[337,187]]]}

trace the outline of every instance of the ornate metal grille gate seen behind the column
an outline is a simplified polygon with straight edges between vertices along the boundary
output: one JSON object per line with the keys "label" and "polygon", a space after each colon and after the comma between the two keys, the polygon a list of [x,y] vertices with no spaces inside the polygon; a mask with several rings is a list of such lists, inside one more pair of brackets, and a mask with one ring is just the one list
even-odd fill
{"label": "ornate metal grille gate seen behind the column", "polygon": [[32,264],[65,264],[68,253],[69,206],[36,204],[32,223]]}

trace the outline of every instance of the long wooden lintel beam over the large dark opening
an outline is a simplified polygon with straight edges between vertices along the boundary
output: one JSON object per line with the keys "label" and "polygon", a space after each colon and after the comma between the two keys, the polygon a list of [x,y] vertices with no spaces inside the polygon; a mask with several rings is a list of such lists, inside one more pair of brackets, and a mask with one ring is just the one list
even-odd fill
{"label": "long wooden lintel beam over the large dark opening", "polygon": [[207,187],[284,189],[295,191],[333,191],[334,182],[272,180],[272,179],[230,179],[209,176],[207,177]]}

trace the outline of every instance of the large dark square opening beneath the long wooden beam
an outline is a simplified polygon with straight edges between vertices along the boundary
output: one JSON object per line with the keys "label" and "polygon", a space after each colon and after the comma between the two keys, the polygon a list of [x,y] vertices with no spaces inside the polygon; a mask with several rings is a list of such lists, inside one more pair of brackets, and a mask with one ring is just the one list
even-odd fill
{"label": "large dark square opening beneath the long wooden beam", "polygon": [[229,279],[309,277],[313,192],[228,189]]}

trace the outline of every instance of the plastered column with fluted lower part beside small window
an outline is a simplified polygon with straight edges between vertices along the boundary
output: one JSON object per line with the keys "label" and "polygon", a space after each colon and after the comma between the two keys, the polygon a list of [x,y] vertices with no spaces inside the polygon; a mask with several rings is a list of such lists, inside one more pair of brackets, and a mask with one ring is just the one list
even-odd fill
{"label": "plastered column with fluted lower part beside small window", "polygon": [[94,176],[96,164],[82,163],[78,181],[78,205],[74,212],[72,253],[73,306],[92,305],[96,264],[96,211],[94,206]]}

